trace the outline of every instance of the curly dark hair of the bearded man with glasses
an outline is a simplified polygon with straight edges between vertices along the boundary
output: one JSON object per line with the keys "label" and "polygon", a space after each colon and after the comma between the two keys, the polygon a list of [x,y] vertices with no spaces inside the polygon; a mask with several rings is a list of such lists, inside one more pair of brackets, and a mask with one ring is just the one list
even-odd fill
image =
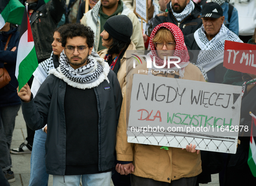
{"label": "curly dark hair of the bearded man with glasses", "polygon": [[88,47],[93,47],[94,43],[94,32],[90,27],[81,25],[80,23],[72,23],[65,25],[65,29],[60,33],[62,38],[62,47],[66,46],[67,39],[77,36],[86,38],[86,43]]}

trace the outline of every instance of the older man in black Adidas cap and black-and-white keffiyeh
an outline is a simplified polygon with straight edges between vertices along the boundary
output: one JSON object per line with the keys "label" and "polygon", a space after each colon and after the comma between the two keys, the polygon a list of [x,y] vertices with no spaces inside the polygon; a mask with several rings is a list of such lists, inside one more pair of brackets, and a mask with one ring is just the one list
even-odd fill
{"label": "older man in black Adidas cap and black-and-white keffiyeh", "polygon": [[191,63],[204,68],[209,82],[222,83],[227,71],[223,67],[225,40],[243,41],[223,24],[225,17],[218,3],[206,3],[200,18],[203,20],[201,28],[188,35],[194,54]]}

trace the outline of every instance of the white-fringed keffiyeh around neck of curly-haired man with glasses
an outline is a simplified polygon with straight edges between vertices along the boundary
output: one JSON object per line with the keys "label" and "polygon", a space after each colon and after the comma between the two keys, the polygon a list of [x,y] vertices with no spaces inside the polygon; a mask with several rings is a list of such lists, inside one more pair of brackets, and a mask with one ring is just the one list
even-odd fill
{"label": "white-fringed keffiyeh around neck of curly-haired man with glasses", "polygon": [[105,79],[109,82],[107,75],[110,68],[104,62],[104,59],[101,59],[97,53],[92,52],[87,60],[87,65],[73,69],[68,63],[64,51],[62,51],[60,55],[60,66],[56,70],[51,70],[50,73],[63,79],[68,85],[80,89],[96,87]]}

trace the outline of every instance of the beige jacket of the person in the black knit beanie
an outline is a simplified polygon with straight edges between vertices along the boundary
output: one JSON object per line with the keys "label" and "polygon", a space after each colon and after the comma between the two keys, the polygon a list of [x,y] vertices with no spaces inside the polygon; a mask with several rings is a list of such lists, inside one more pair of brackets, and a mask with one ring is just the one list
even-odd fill
{"label": "beige jacket of the person in the black knit beanie", "polygon": [[[104,58],[105,55],[107,54],[107,50],[108,49],[104,49],[104,50],[100,50],[97,53],[99,54],[100,58]],[[131,54],[134,54],[136,51],[136,47],[135,44],[133,43],[133,41],[130,43],[129,47],[126,49],[127,50],[133,50],[129,51]],[[130,78],[130,75],[132,73],[132,69],[133,69],[133,58],[129,57],[126,58],[126,52],[123,54],[123,58],[120,60],[121,61],[121,66],[120,69],[118,70],[117,73],[117,79],[120,83],[120,87],[122,89],[122,94],[124,95],[125,91],[126,91],[126,79]]]}

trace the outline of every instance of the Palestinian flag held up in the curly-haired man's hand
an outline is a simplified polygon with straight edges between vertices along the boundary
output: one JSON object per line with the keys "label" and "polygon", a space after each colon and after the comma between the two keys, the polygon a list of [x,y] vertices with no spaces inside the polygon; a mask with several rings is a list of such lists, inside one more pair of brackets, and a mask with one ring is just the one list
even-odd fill
{"label": "Palestinian flag held up in the curly-haired man's hand", "polygon": [[19,82],[19,90],[29,81],[37,66],[38,61],[36,57],[36,49],[29,23],[29,16],[25,8],[20,26],[19,46],[15,71],[15,76]]}

